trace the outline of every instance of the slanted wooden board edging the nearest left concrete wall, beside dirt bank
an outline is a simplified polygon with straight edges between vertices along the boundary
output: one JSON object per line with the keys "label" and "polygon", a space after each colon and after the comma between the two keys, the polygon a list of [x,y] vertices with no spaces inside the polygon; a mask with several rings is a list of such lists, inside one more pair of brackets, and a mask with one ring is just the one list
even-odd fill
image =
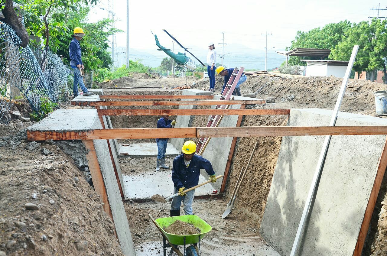
{"label": "slanted wooden board edging the nearest left concrete wall, beside dirt bank", "polygon": [[97,195],[101,196],[101,200],[104,203],[104,211],[107,215],[110,216],[111,220],[114,221],[113,215],[111,214],[108,194],[106,193],[105,184],[103,182],[101,168],[99,167],[96,150],[94,148],[94,143],[92,140],[82,140],[82,143],[83,145],[85,145],[86,150],[88,151],[86,159],[88,161],[89,171],[93,181],[94,190],[96,191]]}

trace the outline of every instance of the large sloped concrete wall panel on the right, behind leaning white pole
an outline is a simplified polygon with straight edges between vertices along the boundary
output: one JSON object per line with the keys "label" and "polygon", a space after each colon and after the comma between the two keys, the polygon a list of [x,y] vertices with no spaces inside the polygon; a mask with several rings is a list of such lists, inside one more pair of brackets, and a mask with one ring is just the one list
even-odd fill
{"label": "large sloped concrete wall panel on the right, behind leaning white pole", "polygon": [[[292,109],[289,126],[328,125],[332,111]],[[387,125],[340,112],[341,125]],[[289,255],[325,136],[283,137],[260,233]],[[332,136],[315,200],[296,255],[353,255],[385,135]]]}

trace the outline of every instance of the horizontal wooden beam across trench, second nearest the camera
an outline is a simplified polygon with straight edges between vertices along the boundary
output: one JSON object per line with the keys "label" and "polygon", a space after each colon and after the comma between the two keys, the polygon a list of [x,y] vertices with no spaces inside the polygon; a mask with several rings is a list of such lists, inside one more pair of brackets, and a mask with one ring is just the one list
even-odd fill
{"label": "horizontal wooden beam across trench, second nearest the camera", "polygon": [[290,109],[97,109],[103,116],[287,115]]}

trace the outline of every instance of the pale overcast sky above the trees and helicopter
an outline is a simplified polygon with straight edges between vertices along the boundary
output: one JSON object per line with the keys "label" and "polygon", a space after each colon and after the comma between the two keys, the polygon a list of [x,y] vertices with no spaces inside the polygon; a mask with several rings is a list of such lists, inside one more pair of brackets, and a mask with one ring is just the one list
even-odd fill
{"label": "pale overcast sky above the trees and helicopter", "polygon": [[[124,31],[116,34],[117,46],[125,48],[126,0],[110,1],[114,1],[115,26]],[[233,2],[129,0],[130,48],[154,51],[159,56],[151,31],[158,35],[161,45],[172,49],[172,39],[163,31],[166,29],[195,55],[205,56],[209,42],[214,42],[217,53],[221,54],[218,43],[222,43],[223,31],[224,43],[229,44],[224,53],[232,51],[233,56],[262,53],[266,38],[261,34],[266,32],[272,34],[267,37],[267,48],[275,47],[271,50],[274,52],[290,46],[298,30],[308,31],[345,19],[369,20],[368,17],[377,15],[376,10],[370,9],[378,5],[376,1],[363,0],[237,1],[234,6]],[[90,22],[107,17],[108,12],[100,8],[108,9],[108,0],[101,0],[91,8]],[[386,11],[380,11],[380,16],[386,15]],[[175,52],[177,48],[175,44]]]}

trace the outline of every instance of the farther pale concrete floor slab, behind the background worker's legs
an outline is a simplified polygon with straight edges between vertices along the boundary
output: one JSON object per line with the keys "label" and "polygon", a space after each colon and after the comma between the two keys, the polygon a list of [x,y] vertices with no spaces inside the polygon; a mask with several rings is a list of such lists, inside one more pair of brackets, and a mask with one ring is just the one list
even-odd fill
{"label": "farther pale concrete floor slab, behind the background worker's legs", "polygon": [[[120,154],[118,156],[120,158],[157,157],[158,155],[156,142],[119,144],[119,149]],[[165,155],[175,157],[179,154],[180,152],[171,143],[168,143]]]}

